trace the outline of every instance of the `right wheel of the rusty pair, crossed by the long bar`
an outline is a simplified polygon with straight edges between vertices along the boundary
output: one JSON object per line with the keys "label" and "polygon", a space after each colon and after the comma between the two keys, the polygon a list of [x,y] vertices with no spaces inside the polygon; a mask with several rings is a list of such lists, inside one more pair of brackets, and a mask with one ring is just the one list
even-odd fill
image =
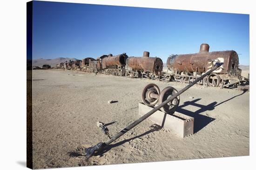
{"label": "right wheel of the rusty pair, crossed by the long bar", "polygon": [[[174,95],[177,92],[178,91],[171,86],[164,88],[159,96],[159,104],[166,101],[167,99],[169,99],[172,95]],[[164,113],[173,114],[175,112],[175,110],[177,109],[177,107],[179,106],[179,103],[180,103],[180,96],[177,96],[172,101],[170,101],[166,105],[164,105],[161,108],[161,110]]]}

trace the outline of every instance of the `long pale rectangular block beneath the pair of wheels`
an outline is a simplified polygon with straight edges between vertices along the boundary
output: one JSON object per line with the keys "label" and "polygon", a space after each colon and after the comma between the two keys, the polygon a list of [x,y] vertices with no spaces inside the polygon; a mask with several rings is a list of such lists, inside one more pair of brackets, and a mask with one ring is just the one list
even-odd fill
{"label": "long pale rectangular block beneath the pair of wheels", "polygon": [[[139,103],[139,115],[143,116],[154,107],[148,107],[143,103]],[[175,112],[170,115],[160,110],[148,117],[152,122],[169,129],[181,138],[188,137],[194,133],[194,118],[182,113]]]}

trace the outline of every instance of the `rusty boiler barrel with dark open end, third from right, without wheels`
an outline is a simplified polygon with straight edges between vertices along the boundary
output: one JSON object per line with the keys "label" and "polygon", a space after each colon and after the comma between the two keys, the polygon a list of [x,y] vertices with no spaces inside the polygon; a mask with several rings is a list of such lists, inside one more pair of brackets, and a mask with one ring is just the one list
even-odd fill
{"label": "rusty boiler barrel with dark open end, third from right, without wheels", "polygon": [[123,67],[126,64],[126,59],[128,56],[126,53],[117,55],[117,56],[110,56],[105,57],[102,59],[102,69],[107,69],[108,67],[113,67],[113,66],[120,66]]}

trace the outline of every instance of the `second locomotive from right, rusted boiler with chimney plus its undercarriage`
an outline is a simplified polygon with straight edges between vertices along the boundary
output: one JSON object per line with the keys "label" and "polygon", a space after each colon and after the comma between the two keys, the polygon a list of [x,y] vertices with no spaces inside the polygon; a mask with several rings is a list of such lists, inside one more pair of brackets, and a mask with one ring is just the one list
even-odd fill
{"label": "second locomotive from right, rusted boiler with chimney plus its undercarriage", "polygon": [[159,78],[162,74],[163,63],[159,57],[149,57],[144,51],[142,57],[129,57],[126,60],[126,76],[135,78]]}

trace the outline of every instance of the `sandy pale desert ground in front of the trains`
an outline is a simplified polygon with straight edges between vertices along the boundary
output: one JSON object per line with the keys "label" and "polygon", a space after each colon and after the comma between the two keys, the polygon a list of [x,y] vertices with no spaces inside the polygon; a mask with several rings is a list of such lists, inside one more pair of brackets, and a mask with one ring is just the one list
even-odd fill
{"label": "sandy pale desert ground in front of the trains", "polygon": [[249,155],[249,92],[195,85],[181,94],[177,109],[195,118],[194,135],[181,139],[145,120],[102,156],[86,158],[84,148],[108,140],[97,121],[112,136],[139,118],[145,85],[180,90],[186,84],[63,70],[33,70],[33,78],[35,169]]}

